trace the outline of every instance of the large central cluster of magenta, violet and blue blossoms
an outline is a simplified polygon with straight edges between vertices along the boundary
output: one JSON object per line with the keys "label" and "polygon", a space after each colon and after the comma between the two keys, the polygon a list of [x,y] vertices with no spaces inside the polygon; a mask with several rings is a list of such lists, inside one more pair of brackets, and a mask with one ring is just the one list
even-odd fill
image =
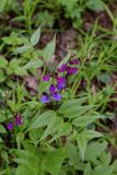
{"label": "large central cluster of magenta, violet and blue blossoms", "polygon": [[52,78],[48,93],[45,93],[40,98],[43,104],[50,103],[51,101],[59,102],[61,100],[61,91],[67,86],[67,79],[69,75],[78,73],[79,69],[77,65],[79,63],[80,60],[72,59],[67,63],[62,63],[54,75],[47,74],[43,77],[43,81],[45,82]]}

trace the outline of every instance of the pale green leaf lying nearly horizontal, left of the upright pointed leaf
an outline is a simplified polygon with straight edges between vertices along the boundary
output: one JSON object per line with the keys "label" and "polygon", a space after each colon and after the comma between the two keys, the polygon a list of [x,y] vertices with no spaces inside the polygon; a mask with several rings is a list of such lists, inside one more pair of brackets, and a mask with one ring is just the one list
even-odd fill
{"label": "pale green leaf lying nearly horizontal, left of the upright pointed leaf", "polygon": [[30,61],[24,66],[25,69],[31,69],[31,68],[37,69],[42,67],[43,67],[42,60]]}

